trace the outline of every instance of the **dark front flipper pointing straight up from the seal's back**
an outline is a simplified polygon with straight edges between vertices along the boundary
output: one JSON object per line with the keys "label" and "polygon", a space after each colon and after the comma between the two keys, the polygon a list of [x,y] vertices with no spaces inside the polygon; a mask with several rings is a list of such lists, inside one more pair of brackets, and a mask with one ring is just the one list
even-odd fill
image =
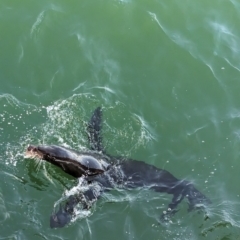
{"label": "dark front flipper pointing straight up from the seal's back", "polygon": [[102,146],[101,128],[102,128],[102,109],[101,107],[98,107],[94,110],[93,115],[87,125],[88,141],[91,150],[104,152]]}

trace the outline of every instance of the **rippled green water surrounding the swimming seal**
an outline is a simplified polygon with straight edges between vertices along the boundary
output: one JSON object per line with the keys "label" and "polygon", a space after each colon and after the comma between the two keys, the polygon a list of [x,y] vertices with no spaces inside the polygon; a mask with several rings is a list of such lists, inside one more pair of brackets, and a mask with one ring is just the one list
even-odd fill
{"label": "rippled green water surrounding the swimming seal", "polygon": [[[0,239],[240,239],[239,22],[237,0],[1,0]],[[88,147],[97,106],[109,153],[192,181],[207,211],[159,225],[171,196],[116,189],[51,229],[77,182],[24,152]]]}

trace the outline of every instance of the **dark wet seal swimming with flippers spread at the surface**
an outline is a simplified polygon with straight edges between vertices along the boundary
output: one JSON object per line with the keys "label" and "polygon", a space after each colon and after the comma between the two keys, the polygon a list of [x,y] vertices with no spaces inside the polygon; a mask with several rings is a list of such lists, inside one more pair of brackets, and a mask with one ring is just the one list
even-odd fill
{"label": "dark wet seal swimming with flippers spread at the surface", "polygon": [[143,161],[108,155],[102,144],[101,125],[102,110],[98,107],[87,125],[90,145],[87,152],[56,145],[30,145],[27,148],[28,157],[56,165],[71,176],[82,178],[89,185],[87,190],[70,196],[63,206],[52,213],[50,227],[64,227],[71,221],[76,205],[81,204],[83,209],[89,209],[102,193],[115,187],[147,187],[156,192],[172,194],[172,201],[161,215],[163,221],[178,211],[177,207],[184,198],[188,200],[189,211],[211,203],[192,183],[179,180],[166,170]]}

